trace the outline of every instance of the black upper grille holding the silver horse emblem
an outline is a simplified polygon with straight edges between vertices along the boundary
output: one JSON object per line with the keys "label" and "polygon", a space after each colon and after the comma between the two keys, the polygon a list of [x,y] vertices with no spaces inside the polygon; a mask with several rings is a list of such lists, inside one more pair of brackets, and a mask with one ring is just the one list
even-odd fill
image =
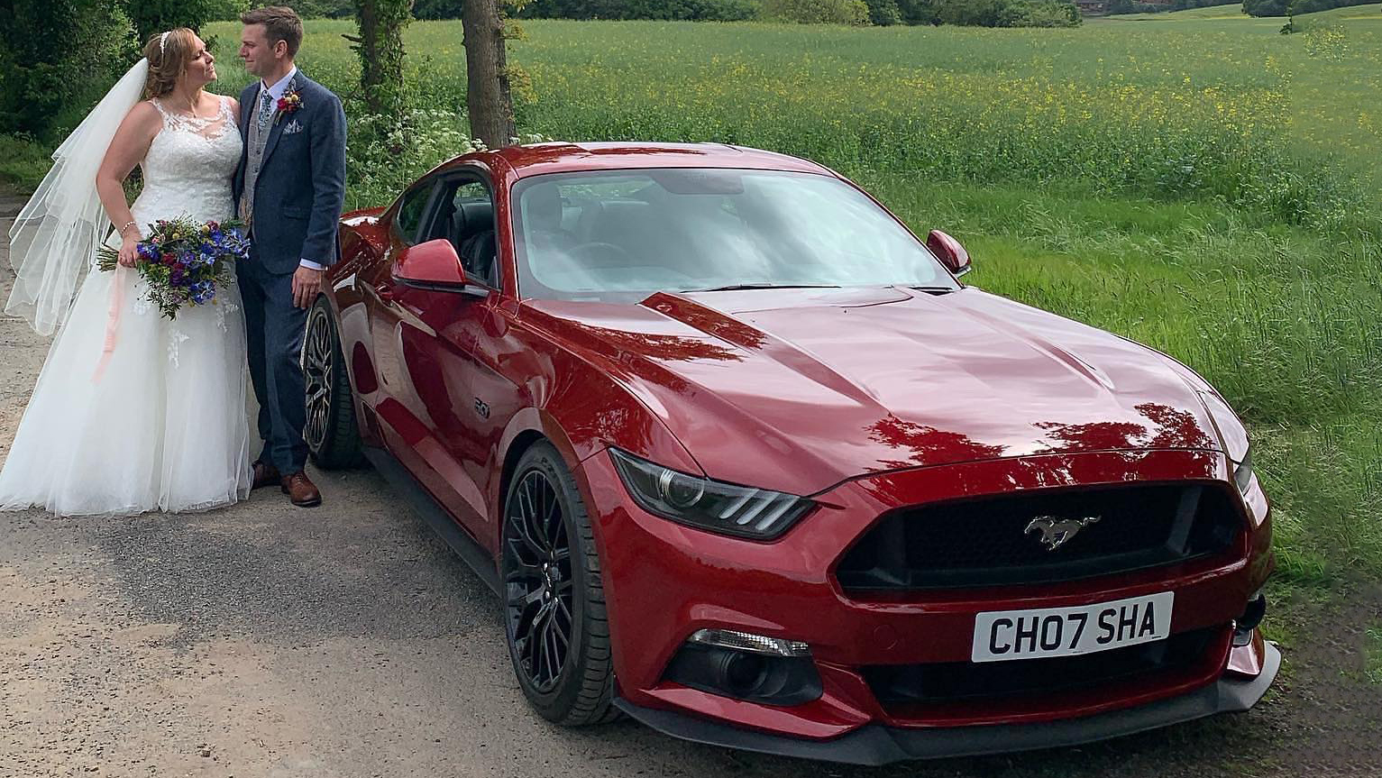
{"label": "black upper grille holding the silver horse emblem", "polygon": [[[1079,526],[1050,549],[1042,525],[1061,522]],[[1218,554],[1240,531],[1240,513],[1216,486],[1013,493],[893,511],[850,549],[836,575],[846,590],[1074,580]]]}

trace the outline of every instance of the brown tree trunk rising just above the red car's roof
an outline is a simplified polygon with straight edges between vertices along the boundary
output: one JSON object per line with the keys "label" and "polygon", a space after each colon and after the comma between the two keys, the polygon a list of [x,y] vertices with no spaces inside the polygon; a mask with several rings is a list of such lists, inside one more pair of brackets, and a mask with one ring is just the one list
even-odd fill
{"label": "brown tree trunk rising just above the red car's roof", "polygon": [[466,33],[466,112],[470,113],[470,134],[488,148],[507,146],[517,130],[509,97],[504,22],[499,15],[499,0],[466,0],[460,19]]}

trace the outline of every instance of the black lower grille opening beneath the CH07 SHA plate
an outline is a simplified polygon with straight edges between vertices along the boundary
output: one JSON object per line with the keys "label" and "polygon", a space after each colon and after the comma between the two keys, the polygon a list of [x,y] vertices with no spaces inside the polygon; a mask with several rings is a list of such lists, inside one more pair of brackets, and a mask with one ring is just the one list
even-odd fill
{"label": "black lower grille opening beneath the CH07 SHA plate", "polygon": [[879,665],[864,667],[864,679],[884,708],[1074,691],[1208,667],[1219,659],[1209,652],[1223,645],[1215,640],[1223,633],[1209,627],[1081,656]]}

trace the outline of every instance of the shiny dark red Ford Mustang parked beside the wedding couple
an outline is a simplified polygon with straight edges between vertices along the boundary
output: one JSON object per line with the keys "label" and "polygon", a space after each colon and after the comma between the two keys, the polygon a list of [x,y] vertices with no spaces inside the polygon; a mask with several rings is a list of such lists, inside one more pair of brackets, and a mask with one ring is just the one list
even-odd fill
{"label": "shiny dark red Ford Mustang parked beside the wedding couple", "polygon": [[876,764],[1247,710],[1244,426],[967,269],[802,159],[470,153],[341,221],[308,442],[416,497],[553,721]]}

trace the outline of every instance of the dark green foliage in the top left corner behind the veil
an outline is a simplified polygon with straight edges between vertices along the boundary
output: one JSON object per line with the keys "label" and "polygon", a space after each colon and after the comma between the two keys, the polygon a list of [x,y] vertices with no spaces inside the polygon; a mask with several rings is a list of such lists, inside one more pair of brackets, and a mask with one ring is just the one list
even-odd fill
{"label": "dark green foliage in the top left corner behind the veil", "polygon": [[0,12],[0,133],[70,130],[135,59],[130,22],[108,1],[4,0]]}

